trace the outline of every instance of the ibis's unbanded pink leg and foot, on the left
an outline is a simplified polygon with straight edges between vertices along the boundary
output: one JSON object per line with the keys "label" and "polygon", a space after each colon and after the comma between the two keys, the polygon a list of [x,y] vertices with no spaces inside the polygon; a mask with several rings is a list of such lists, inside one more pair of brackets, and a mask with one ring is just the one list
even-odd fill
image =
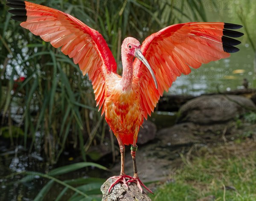
{"label": "ibis's unbanded pink leg and foot, on the left", "polygon": [[121,172],[120,172],[120,176],[111,177],[111,178],[116,179],[116,181],[113,182],[113,184],[111,184],[111,186],[108,189],[108,193],[110,193],[110,191],[114,187],[114,185],[118,184],[119,182],[122,182],[128,188],[128,185],[127,185],[125,179],[126,178],[132,179],[131,176],[125,175],[125,145],[122,143],[119,136],[117,136],[116,138],[117,138],[117,141],[118,141],[118,144],[119,144],[119,147],[120,147],[120,153],[121,153]]}

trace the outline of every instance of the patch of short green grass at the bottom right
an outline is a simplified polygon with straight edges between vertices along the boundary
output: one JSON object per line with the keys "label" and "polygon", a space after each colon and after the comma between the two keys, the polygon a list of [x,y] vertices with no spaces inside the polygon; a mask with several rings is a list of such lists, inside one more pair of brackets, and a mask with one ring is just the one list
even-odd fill
{"label": "patch of short green grass at the bottom right", "polygon": [[[255,137],[255,136],[254,136]],[[157,188],[152,201],[254,201],[256,198],[255,141],[204,147],[192,161],[174,170],[171,183]]]}

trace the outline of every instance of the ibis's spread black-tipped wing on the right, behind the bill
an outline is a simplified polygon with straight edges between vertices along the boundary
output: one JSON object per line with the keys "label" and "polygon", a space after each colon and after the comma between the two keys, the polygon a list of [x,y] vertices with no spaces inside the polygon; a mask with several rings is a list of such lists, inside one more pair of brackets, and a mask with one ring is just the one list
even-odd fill
{"label": "ibis's spread black-tipped wing on the right, behind the bill", "polygon": [[229,29],[241,28],[230,23],[183,23],[163,28],[147,37],[141,51],[157,79],[158,88],[145,65],[134,60],[134,83],[140,88],[144,117],[154,111],[163,91],[168,91],[177,76],[189,74],[202,63],[229,57],[239,51],[233,45],[241,42],[230,37],[243,34]]}

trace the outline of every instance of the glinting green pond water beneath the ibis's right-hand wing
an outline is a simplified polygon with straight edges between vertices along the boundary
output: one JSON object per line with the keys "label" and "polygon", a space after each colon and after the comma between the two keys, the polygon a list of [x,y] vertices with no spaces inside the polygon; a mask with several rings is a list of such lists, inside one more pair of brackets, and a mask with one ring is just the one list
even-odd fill
{"label": "glinting green pond water beneath the ibis's right-hand wing", "polygon": [[249,44],[238,46],[240,51],[227,59],[203,64],[192,69],[191,74],[182,75],[172,84],[169,94],[201,95],[204,93],[231,91],[243,88],[243,79],[249,88],[256,88],[255,55]]}

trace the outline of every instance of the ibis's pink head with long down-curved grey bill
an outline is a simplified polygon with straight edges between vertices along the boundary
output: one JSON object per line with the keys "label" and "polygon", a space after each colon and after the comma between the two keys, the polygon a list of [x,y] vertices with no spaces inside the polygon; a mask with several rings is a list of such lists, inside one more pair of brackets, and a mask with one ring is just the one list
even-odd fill
{"label": "ibis's pink head with long down-curved grey bill", "polygon": [[145,57],[143,56],[143,54],[140,50],[140,42],[133,37],[125,38],[125,40],[122,42],[122,52],[127,55],[136,57],[141,62],[143,62],[143,64],[148,68],[148,70],[154,80],[155,87],[158,88],[157,79],[156,79],[156,76],[154,75],[154,71],[152,70],[147,59],[145,59]]}

